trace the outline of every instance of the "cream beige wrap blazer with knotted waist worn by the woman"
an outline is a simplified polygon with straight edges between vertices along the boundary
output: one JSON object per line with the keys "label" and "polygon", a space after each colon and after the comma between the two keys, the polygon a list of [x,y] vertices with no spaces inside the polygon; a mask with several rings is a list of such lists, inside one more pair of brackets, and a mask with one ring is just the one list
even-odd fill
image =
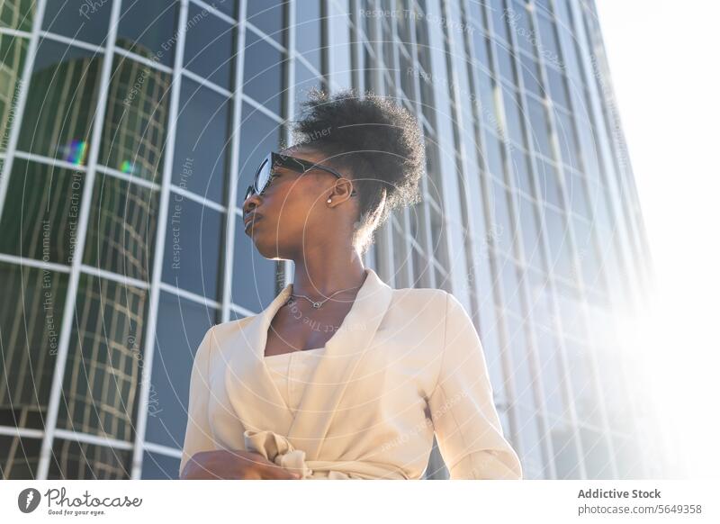
{"label": "cream beige wrap blazer with knotted waist worn by the woman", "polygon": [[245,449],[308,479],[419,479],[435,432],[452,479],[522,478],[463,305],[365,272],[294,416],[264,357],[292,284],[264,311],[207,331],[193,362],[180,472],[199,451]]}

